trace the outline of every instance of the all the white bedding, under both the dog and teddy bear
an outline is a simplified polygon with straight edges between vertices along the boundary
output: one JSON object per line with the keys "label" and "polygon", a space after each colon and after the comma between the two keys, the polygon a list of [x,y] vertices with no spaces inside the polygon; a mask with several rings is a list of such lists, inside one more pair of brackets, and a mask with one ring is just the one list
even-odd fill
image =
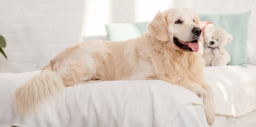
{"label": "all the white bedding, under both the dog and teddy bear", "polygon": [[[255,72],[256,66],[252,65],[205,68],[205,81],[214,90],[216,114],[239,117],[256,109]],[[68,87],[39,108],[35,116],[15,116],[15,89],[37,73],[0,74],[0,126],[207,126],[201,98],[159,80]]]}

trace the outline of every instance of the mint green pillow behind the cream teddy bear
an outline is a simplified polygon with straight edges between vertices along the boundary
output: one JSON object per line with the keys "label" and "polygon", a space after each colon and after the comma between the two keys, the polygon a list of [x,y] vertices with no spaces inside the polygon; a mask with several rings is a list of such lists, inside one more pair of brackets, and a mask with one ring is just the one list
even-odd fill
{"label": "mint green pillow behind the cream teddy bear", "polygon": [[231,56],[228,65],[247,67],[248,22],[251,11],[237,14],[199,14],[201,21],[212,21],[215,27],[225,29],[233,40],[224,48]]}

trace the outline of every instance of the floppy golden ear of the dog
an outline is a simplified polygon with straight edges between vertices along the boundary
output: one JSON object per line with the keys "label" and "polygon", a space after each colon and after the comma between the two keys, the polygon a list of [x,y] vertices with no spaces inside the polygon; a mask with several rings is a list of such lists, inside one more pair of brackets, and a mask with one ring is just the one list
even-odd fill
{"label": "floppy golden ear of the dog", "polygon": [[161,42],[166,42],[169,40],[166,18],[166,13],[161,13],[161,11],[158,11],[155,18],[148,24],[148,31],[150,31],[153,36]]}

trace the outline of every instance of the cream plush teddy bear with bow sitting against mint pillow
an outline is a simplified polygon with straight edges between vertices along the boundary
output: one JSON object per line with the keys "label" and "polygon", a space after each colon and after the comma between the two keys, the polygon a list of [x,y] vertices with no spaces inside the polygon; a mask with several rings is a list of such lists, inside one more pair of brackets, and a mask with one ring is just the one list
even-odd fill
{"label": "cream plush teddy bear with bow sitting against mint pillow", "polygon": [[204,29],[204,54],[206,66],[226,66],[230,62],[230,54],[223,47],[233,36],[222,28],[208,24]]}

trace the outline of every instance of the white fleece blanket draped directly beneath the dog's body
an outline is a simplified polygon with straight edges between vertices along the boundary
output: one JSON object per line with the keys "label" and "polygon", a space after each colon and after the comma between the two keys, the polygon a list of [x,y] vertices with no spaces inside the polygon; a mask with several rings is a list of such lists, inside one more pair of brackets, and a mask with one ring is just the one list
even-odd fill
{"label": "white fleece blanket draped directly beneath the dog's body", "polygon": [[[1,119],[10,113],[13,116],[10,100],[15,89],[36,73],[2,77],[9,87],[1,94],[8,98],[1,101],[6,109]],[[165,81],[102,81],[68,87],[57,99],[40,107],[35,116],[15,116],[12,126],[164,127],[170,125],[180,109],[191,103],[204,108],[202,99],[194,93]]]}

